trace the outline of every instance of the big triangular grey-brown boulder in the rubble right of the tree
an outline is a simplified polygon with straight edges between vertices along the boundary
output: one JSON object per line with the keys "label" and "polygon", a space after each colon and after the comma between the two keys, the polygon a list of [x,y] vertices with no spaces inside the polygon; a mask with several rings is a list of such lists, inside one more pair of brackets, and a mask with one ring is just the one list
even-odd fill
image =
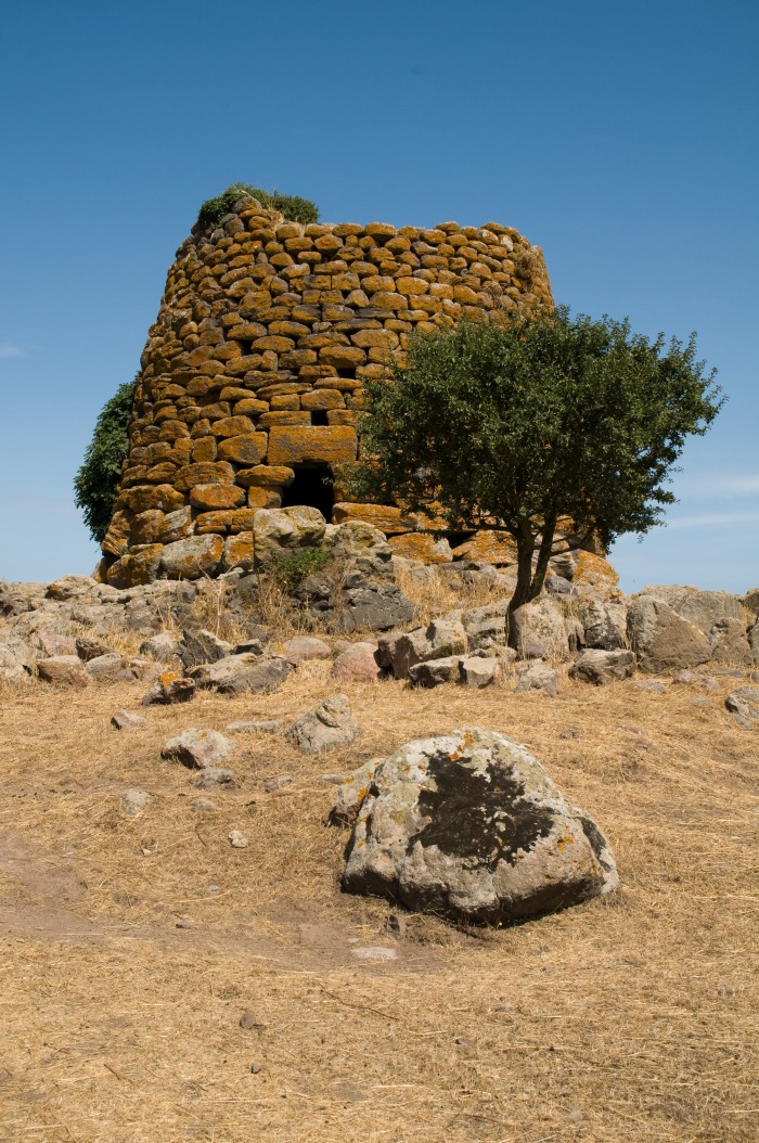
{"label": "big triangular grey-brown boulder in the rubble right of the tree", "polygon": [[628,634],[644,671],[677,671],[711,658],[709,638],[655,596],[636,596],[628,612]]}

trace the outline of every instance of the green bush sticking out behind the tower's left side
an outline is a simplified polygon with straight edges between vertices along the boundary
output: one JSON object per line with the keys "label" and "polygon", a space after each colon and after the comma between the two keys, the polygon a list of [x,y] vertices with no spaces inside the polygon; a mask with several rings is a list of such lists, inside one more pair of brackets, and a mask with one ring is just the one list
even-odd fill
{"label": "green bush sticking out behind the tower's left side", "polygon": [[98,544],[107,531],[121,462],[127,455],[135,385],[136,379],[125,382],[101,409],[85,461],[74,477],[74,502],[83,509],[85,523]]}

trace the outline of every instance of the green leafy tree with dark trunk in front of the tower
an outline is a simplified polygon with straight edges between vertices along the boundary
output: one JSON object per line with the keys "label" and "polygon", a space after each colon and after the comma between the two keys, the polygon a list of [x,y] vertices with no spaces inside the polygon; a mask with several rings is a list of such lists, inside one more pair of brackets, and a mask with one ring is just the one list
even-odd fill
{"label": "green leafy tree with dark trunk in front of the tower", "polygon": [[416,335],[407,367],[365,386],[369,459],[347,473],[351,491],[412,510],[438,503],[455,529],[505,528],[518,607],[542,589],[558,518],[583,531],[561,550],[593,529],[608,546],[662,522],[686,438],[722,403],[695,352],[695,335],[665,346],[661,334],[566,307]]}

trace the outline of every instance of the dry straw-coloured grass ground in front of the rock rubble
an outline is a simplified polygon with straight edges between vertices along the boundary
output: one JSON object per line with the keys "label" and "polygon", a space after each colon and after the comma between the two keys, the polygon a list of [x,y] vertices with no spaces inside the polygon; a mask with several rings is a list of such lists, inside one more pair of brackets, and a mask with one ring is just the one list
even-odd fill
{"label": "dry straw-coloured grass ground in front of the rock rubble", "polygon": [[[328,672],[123,732],[111,713],[138,711],[144,682],[2,692],[0,1141],[759,1138],[759,733],[724,709],[735,680],[696,706],[692,686],[564,678],[551,701],[513,679]],[[238,783],[209,791],[160,760],[182,729],[289,719],[336,689],[361,725],[350,749],[235,736]],[[496,932],[406,914],[398,940],[388,903],[339,892],[322,776],[465,725],[525,743],[596,817],[614,897]],[[126,788],[152,796],[138,816]]]}

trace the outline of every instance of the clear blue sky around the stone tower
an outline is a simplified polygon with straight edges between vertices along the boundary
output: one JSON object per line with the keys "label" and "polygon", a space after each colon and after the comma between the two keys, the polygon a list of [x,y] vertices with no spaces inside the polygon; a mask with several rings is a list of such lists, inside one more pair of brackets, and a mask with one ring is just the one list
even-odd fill
{"label": "clear blue sky around the stone tower", "polygon": [[89,572],[73,474],[200,202],[495,219],[558,301],[687,338],[729,395],[625,590],[759,583],[759,7],[749,0],[6,6],[0,577]]}

